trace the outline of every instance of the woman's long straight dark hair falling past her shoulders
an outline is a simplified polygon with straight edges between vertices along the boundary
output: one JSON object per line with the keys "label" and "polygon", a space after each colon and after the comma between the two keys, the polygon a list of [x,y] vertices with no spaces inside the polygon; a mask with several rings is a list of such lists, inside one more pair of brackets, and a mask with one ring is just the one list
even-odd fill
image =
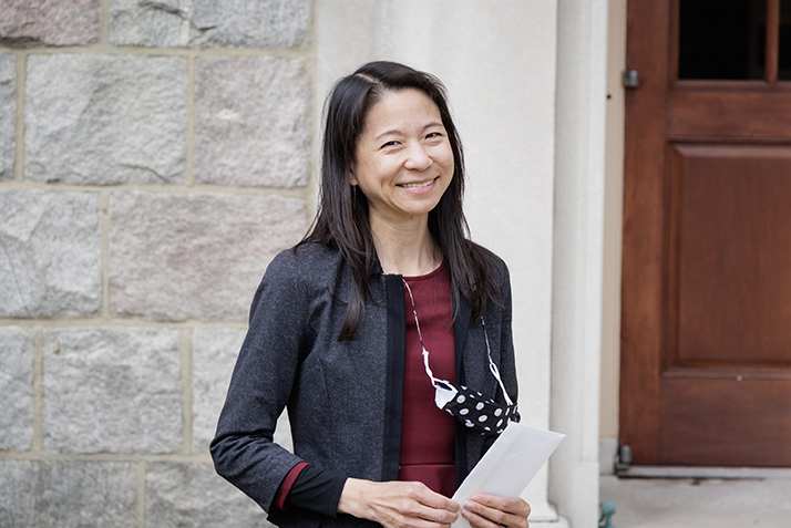
{"label": "woman's long straight dark hair falling past her shoulders", "polygon": [[368,200],[349,180],[358,139],[373,104],[388,92],[407,89],[420,90],[434,102],[453,152],[453,177],[440,203],[429,213],[429,230],[450,269],[453,318],[458,313],[459,291],[472,308],[472,321],[483,315],[489,298],[500,298],[491,253],[468,238],[462,210],[464,154],[448,110],[445,87],[435,76],[403,64],[371,62],[338,81],[327,100],[319,208],[311,229],[298,245],[335,247],[351,268],[353,288],[339,341],[353,338],[364,315],[364,299],[370,296],[368,281],[377,261]]}

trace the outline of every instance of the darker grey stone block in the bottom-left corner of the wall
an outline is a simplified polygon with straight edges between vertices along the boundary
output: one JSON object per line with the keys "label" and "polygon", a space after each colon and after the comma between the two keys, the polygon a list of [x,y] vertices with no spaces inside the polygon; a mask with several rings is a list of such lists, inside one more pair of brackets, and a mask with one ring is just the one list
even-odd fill
{"label": "darker grey stone block in the bottom-left corner of the wall", "polygon": [[0,460],[0,526],[136,526],[133,464]]}

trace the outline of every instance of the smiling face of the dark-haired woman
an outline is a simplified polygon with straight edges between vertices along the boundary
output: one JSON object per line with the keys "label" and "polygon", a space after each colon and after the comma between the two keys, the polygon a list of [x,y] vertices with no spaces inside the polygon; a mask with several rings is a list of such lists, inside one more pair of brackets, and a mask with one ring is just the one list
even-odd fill
{"label": "smiling face of the dark-haired woman", "polygon": [[372,220],[428,219],[453,178],[453,151],[434,102],[414,89],[387,92],[368,112],[351,170]]}

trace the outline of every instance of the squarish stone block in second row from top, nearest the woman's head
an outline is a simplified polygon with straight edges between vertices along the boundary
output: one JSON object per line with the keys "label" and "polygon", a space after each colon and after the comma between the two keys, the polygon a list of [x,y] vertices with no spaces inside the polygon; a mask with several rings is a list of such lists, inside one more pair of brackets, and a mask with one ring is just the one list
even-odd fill
{"label": "squarish stone block in second row from top, nearest the woman's head", "polygon": [[307,185],[310,77],[270,56],[196,61],[195,179],[224,185]]}

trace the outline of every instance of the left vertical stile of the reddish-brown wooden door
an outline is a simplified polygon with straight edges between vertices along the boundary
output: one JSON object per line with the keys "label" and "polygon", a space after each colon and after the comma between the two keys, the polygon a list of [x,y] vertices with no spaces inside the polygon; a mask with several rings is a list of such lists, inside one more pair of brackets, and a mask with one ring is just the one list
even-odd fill
{"label": "left vertical stile of the reddish-brown wooden door", "polygon": [[[665,108],[658,104],[669,84],[669,53],[639,62],[640,55],[665,48],[669,31],[648,31],[650,20],[670,20],[670,2],[635,2],[627,7],[626,68],[639,71],[640,85],[625,94],[624,224],[620,328],[619,445],[640,445],[636,464],[659,458],[659,374],[665,307]],[[668,28],[669,29],[669,28]],[[649,35],[649,37],[645,37]],[[635,123],[650,122],[635,131]],[[639,158],[634,153],[639,152]],[[640,178],[634,175],[640,174]],[[659,313],[661,317],[657,317]],[[640,353],[628,353],[639,350]],[[624,353],[624,352],[627,353]],[[640,402],[631,398],[640,395]]]}

